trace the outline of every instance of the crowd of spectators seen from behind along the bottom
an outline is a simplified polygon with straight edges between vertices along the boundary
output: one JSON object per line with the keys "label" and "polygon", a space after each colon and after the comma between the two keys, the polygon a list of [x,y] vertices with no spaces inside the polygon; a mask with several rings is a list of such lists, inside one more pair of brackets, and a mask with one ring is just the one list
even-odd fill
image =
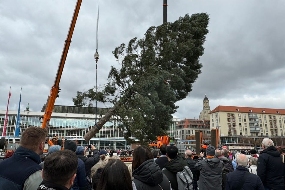
{"label": "crowd of spectators seen from behind along the bottom", "polygon": [[[24,190],[283,190],[282,155],[269,138],[263,151],[221,150],[203,145],[200,157],[178,153],[174,145],[163,144],[160,153],[141,145],[134,150],[97,150],[66,140],[49,147],[42,157],[47,130],[28,127],[20,146],[0,162],[0,189]],[[88,150],[89,154],[87,153]],[[128,167],[120,156],[133,156]]]}

